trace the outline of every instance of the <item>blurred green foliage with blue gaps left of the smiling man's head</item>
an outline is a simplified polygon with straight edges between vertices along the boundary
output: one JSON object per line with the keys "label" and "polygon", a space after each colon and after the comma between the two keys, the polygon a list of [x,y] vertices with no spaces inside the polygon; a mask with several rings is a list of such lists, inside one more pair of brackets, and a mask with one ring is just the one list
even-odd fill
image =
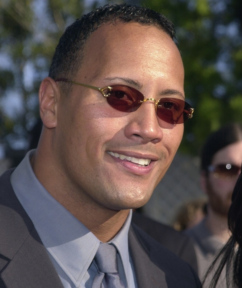
{"label": "blurred green foliage with blue gaps left of the smiling man's head", "polygon": [[27,145],[54,49],[82,14],[80,0],[0,1],[0,141],[6,148]]}

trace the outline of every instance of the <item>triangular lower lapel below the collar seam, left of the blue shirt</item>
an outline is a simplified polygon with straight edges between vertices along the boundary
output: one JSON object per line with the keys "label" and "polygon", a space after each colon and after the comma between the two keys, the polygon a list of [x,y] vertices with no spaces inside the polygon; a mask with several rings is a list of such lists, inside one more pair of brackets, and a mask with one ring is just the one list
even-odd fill
{"label": "triangular lower lapel below the collar seam, left of the blue shirt", "polygon": [[6,287],[63,288],[35,229],[1,274]]}

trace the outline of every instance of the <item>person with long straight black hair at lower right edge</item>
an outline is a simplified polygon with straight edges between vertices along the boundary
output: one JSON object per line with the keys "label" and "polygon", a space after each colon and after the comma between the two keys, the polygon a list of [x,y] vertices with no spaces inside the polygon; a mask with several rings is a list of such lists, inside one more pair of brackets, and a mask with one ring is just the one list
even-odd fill
{"label": "person with long straight black hair at lower right edge", "polygon": [[232,233],[230,239],[218,253],[209,267],[203,283],[211,278],[210,288],[217,288],[221,273],[226,271],[228,288],[242,287],[242,174],[234,187],[232,204],[228,213],[228,227]]}

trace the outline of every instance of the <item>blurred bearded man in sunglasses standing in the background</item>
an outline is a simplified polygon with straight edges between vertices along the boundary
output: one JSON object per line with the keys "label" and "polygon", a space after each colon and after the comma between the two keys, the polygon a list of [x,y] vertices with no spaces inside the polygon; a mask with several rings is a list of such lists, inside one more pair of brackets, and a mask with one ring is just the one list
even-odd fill
{"label": "blurred bearded man in sunglasses standing in the background", "polygon": [[[194,240],[200,279],[230,237],[227,215],[241,162],[241,124],[228,124],[208,137],[201,153],[201,187],[208,196],[208,213],[201,223],[186,231]],[[218,287],[226,287],[223,280]]]}

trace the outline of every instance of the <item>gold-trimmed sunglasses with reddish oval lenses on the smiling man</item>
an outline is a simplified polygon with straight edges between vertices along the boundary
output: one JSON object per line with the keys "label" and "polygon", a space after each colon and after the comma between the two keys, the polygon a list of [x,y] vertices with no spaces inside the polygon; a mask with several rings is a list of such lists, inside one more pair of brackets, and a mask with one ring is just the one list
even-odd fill
{"label": "gold-trimmed sunglasses with reddish oval lenses on the smiling man", "polygon": [[106,97],[107,102],[113,108],[123,112],[136,111],[146,101],[155,102],[155,110],[157,116],[167,123],[181,124],[187,119],[192,118],[194,111],[187,102],[177,98],[161,98],[156,102],[153,98],[146,98],[137,89],[127,85],[111,85],[104,88],[98,88],[67,79],[56,79],[55,81],[64,81],[72,84],[81,85],[87,88],[98,90]]}

